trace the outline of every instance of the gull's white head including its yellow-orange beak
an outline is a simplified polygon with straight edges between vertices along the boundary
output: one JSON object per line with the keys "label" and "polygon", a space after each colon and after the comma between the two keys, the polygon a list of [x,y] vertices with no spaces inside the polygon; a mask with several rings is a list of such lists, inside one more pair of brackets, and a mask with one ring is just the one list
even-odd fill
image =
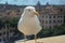
{"label": "gull's white head including its yellow-orange beak", "polygon": [[39,14],[34,6],[26,6],[24,9],[24,13],[25,13],[25,15],[29,15],[29,16],[34,16],[34,15]]}

